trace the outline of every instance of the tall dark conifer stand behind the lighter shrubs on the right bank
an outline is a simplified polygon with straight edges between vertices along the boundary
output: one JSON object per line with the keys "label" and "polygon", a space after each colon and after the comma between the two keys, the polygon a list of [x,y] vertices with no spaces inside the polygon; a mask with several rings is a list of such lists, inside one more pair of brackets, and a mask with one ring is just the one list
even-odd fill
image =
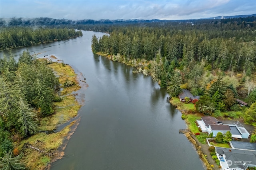
{"label": "tall dark conifer stand behind the lighter shrubs on the right bank", "polygon": [[[255,58],[255,28],[228,25],[205,26],[126,26],[117,27],[110,36],[92,39],[92,51],[120,53],[128,59],[152,60],[161,57],[190,67],[205,60],[211,69],[222,71],[252,71]],[[201,27],[201,29],[200,29]],[[240,26],[241,27],[241,26]],[[178,28],[178,29],[177,29]],[[222,30],[227,29],[228,30]]]}

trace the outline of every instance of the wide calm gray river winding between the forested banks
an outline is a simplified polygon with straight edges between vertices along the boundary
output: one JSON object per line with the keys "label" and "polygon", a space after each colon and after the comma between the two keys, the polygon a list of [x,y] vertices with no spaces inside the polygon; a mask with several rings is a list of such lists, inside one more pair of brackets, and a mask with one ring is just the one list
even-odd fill
{"label": "wide calm gray river winding between the forested banks", "polygon": [[[149,76],[94,55],[92,35],[28,47],[33,53],[55,55],[86,77],[88,87],[81,121],[68,141],[65,156],[52,170],[200,170],[204,166],[179,129],[186,128],[180,111],[168,102]],[[18,55],[26,48],[14,49]],[[1,52],[1,57],[4,52]],[[78,72],[79,71],[79,72]]]}

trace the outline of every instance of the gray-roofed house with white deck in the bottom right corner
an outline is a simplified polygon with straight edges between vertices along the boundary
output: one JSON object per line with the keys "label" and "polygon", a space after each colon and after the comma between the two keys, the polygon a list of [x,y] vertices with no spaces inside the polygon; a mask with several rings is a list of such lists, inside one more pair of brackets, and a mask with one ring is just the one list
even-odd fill
{"label": "gray-roofed house with white deck in the bottom right corner", "polygon": [[[215,146],[214,146],[215,147]],[[215,147],[221,170],[246,170],[256,166],[256,151]]]}

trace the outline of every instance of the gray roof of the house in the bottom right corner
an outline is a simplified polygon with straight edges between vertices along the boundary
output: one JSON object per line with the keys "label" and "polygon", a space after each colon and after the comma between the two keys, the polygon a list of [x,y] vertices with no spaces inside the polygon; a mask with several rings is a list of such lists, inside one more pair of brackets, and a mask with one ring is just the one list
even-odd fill
{"label": "gray roof of the house in the bottom right corner", "polygon": [[256,165],[256,151],[215,147],[218,154],[225,154],[226,160],[232,161],[229,168],[245,169],[248,164]]}

